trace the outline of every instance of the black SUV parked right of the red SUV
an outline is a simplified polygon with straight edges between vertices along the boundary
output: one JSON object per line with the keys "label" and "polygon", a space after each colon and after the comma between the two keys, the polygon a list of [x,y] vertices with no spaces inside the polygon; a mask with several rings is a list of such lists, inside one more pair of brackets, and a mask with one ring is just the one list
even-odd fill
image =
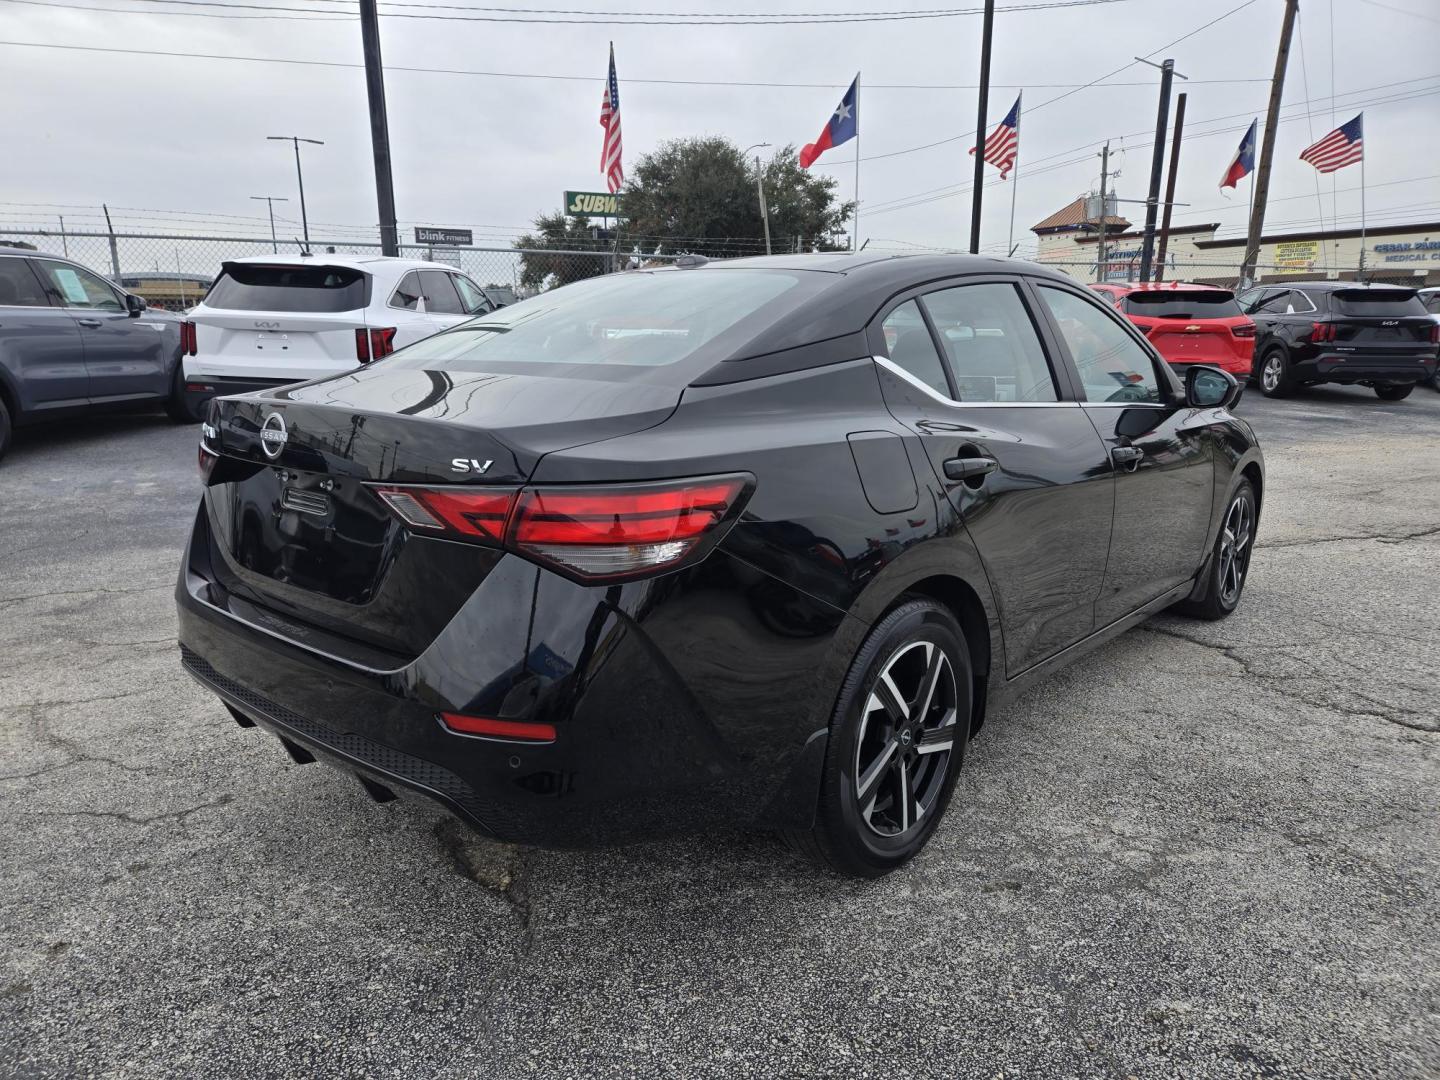
{"label": "black SUV parked right of the red SUV", "polygon": [[1253,379],[1266,397],[1297,386],[1369,386],[1387,402],[1436,373],[1440,324],[1414,289],[1351,281],[1300,281],[1241,292],[1256,321]]}

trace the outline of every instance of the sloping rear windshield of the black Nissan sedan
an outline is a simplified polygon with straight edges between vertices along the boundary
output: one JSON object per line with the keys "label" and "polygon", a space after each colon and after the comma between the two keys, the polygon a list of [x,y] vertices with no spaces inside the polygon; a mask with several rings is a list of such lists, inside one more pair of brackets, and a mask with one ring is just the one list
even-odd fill
{"label": "sloping rear windshield of the black Nissan sedan", "polygon": [[802,275],[832,276],[720,268],[611,274],[481,315],[402,348],[384,363],[452,372],[546,364],[544,374],[668,383],[684,373],[688,382],[688,366],[674,377],[665,369],[711,343],[739,347],[749,341],[806,291],[799,288]]}

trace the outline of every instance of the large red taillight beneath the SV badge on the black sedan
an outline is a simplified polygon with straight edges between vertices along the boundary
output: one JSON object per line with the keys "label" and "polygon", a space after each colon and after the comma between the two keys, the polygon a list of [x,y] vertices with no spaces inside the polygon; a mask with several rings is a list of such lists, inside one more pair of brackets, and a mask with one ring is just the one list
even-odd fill
{"label": "large red taillight beneath the SV badge on the black sedan", "polygon": [[672,570],[724,536],[747,475],[625,487],[419,488],[376,495],[416,531],[503,546],[583,582]]}

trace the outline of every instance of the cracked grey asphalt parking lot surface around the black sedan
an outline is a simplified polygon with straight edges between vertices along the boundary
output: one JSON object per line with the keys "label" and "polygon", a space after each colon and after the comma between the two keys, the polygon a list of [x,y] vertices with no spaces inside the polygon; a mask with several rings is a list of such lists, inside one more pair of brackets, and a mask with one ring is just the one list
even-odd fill
{"label": "cracked grey asphalt parking lot surface around the black sedan", "polygon": [[1225,622],[996,711],[876,883],[765,835],[490,844],[181,674],[194,428],[0,464],[0,1074],[1434,1077],[1440,393],[1240,405]]}

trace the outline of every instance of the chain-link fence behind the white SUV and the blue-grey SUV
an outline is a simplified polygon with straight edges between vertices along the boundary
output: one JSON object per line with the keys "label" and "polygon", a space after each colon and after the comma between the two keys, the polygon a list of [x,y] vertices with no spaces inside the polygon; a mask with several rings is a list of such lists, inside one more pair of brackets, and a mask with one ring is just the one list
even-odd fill
{"label": "chain-link fence behind the white SUV and the blue-grey SUV", "polygon": [[[202,236],[108,232],[45,232],[0,228],[0,245],[24,245],[46,255],[62,255],[144,297],[153,307],[183,311],[200,302],[220,265],[252,255],[298,255],[297,240],[256,236]],[[310,252],[379,256],[379,243],[314,239]],[[622,251],[552,251],[534,248],[439,248],[400,245],[400,255],[454,266],[505,302],[572,281],[616,269],[660,265],[674,255],[641,255]]]}

